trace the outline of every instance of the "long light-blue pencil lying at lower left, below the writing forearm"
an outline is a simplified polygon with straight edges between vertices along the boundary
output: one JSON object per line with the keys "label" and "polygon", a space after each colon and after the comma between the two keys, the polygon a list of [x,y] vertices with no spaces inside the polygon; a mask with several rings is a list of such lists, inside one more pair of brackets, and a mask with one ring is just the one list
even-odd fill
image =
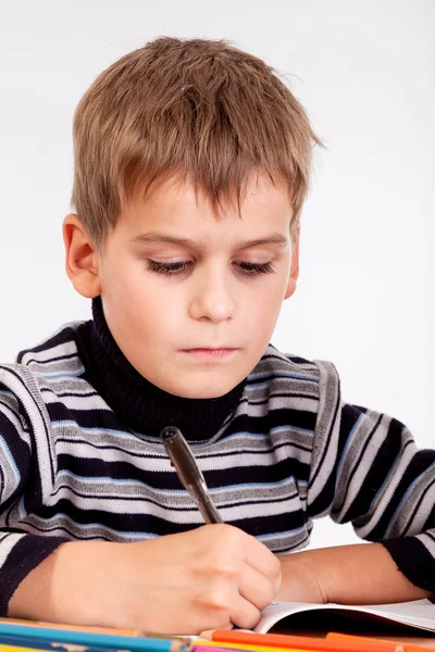
{"label": "long light-blue pencil lying at lower left, below the writing forearm", "polygon": [[[14,642],[11,642],[12,639]],[[28,644],[29,641],[32,641],[32,644]],[[108,652],[108,648],[111,650],[130,650],[132,652],[189,652],[191,649],[188,639],[55,629],[46,626],[38,627],[37,625],[15,625],[4,620],[0,622],[0,642],[46,650],[59,650],[59,645],[55,643],[65,643],[65,648],[66,644],[74,643],[88,648],[83,652]],[[103,650],[99,650],[101,648]]]}

